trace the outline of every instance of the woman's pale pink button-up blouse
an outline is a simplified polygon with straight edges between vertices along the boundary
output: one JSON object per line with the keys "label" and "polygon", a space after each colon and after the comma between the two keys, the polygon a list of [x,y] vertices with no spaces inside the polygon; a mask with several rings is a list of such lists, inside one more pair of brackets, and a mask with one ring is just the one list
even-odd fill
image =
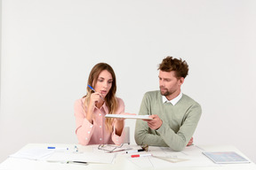
{"label": "woman's pale pink button-up blouse", "polygon": [[[78,143],[87,144],[122,144],[124,143],[124,128],[121,136],[116,135],[115,122],[113,121],[113,132],[110,133],[105,127],[105,115],[108,114],[108,107],[104,103],[100,108],[94,107],[92,123],[86,119],[87,107],[84,110],[85,98],[75,102],[76,136]],[[124,112],[124,101],[117,97],[119,104],[116,114]]]}

